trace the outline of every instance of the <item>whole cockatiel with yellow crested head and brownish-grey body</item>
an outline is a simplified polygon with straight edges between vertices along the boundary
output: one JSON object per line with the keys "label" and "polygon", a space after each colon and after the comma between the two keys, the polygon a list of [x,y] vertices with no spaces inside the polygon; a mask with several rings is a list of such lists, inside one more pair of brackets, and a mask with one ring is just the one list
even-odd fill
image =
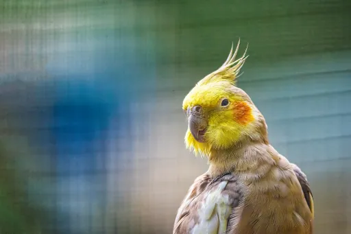
{"label": "whole cockatiel with yellow crested head and brownish-grey body", "polygon": [[235,60],[239,45],[184,98],[186,148],[208,157],[209,169],[186,194],[173,234],[311,234],[306,175],[269,144],[265,118],[235,86],[247,58]]}

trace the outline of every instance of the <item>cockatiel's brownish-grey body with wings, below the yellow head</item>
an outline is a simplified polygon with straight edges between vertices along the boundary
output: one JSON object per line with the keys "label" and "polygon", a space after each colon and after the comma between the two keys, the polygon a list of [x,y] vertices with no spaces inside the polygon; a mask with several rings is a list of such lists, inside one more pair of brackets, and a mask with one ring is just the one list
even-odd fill
{"label": "cockatiel's brownish-grey body with wings, below the yellow head", "polygon": [[271,145],[240,154],[232,173],[213,176],[210,167],[195,180],[173,234],[311,234],[312,193],[300,168]]}

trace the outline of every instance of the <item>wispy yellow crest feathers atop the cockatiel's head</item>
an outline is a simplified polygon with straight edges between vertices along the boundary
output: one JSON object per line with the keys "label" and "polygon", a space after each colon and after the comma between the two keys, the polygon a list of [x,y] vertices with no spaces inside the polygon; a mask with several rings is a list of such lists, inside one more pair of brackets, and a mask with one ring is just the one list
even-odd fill
{"label": "wispy yellow crest feathers atop the cockatiel's head", "polygon": [[237,45],[237,49],[235,49],[234,53],[233,53],[233,44],[232,44],[232,48],[230,49],[230,53],[228,55],[226,62],[224,62],[223,65],[219,67],[219,69],[217,69],[216,71],[213,71],[213,73],[206,75],[205,78],[197,82],[197,85],[208,84],[209,82],[215,82],[215,81],[221,81],[221,80],[228,80],[233,84],[235,84],[236,79],[241,75],[239,74],[240,69],[241,67],[243,67],[244,62],[248,57],[246,56],[247,47],[249,46],[247,44],[247,47],[245,49],[245,53],[243,54],[243,56],[235,60],[238,54],[239,45],[240,45],[240,39]]}

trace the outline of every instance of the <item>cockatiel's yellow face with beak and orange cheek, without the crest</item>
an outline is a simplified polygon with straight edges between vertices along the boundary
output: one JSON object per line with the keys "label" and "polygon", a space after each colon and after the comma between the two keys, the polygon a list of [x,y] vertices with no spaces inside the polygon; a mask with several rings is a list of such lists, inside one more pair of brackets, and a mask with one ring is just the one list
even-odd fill
{"label": "cockatiel's yellow face with beak and orange cheek, without the crest", "polygon": [[230,148],[254,128],[254,106],[232,82],[195,86],[183,101],[189,121],[186,147],[195,154]]}

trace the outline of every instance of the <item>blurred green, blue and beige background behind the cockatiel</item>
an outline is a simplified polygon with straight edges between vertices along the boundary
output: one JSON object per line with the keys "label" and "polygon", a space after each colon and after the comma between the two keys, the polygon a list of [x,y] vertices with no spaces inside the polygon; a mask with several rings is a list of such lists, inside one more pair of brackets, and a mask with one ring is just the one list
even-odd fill
{"label": "blurred green, blue and beige background behind the cockatiel", "polygon": [[182,99],[249,43],[238,86],[351,233],[351,1],[0,1],[0,233],[171,233],[206,159]]}

